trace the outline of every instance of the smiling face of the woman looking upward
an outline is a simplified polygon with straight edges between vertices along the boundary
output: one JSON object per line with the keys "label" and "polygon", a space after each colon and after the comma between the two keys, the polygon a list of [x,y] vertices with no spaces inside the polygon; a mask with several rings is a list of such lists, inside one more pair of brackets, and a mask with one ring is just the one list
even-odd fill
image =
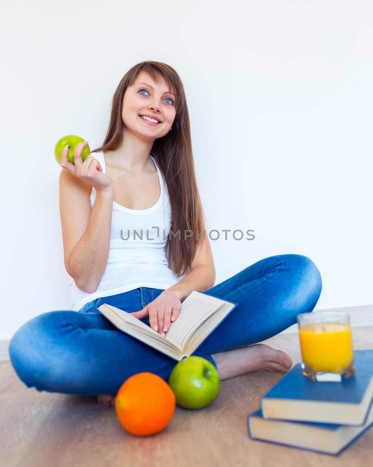
{"label": "smiling face of the woman looking upward", "polygon": [[[124,93],[122,120],[126,128],[135,134],[153,140],[162,138],[175,120],[175,102],[176,96],[169,92],[169,85],[164,78],[158,85],[142,71],[134,85],[128,86]],[[159,123],[149,124],[140,115],[152,115]]]}

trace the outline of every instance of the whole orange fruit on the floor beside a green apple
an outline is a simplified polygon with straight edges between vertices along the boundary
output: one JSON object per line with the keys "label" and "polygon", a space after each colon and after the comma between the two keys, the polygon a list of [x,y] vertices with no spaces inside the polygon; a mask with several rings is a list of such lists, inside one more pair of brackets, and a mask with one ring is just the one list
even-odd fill
{"label": "whole orange fruit on the floor beside a green apple", "polygon": [[160,376],[144,371],[130,376],[115,398],[115,412],[123,428],[137,436],[161,432],[174,415],[176,398]]}

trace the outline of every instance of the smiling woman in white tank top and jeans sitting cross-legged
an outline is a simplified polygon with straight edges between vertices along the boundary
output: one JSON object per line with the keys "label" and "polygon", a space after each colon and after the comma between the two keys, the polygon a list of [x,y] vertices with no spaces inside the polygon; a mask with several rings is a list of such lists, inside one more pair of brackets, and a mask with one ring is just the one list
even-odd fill
{"label": "smiling woman in white tank top and jeans sitting cross-legged", "polygon": [[306,256],[277,255],[214,286],[176,71],[152,61],[131,68],[114,93],[104,144],[91,152],[97,158],[83,163],[87,144],[78,144],[74,165],[66,150],[61,156],[70,310],[42,313],[14,334],[9,354],[21,380],[37,390],[98,395],[106,405],[135,373],[168,381],[176,361],[119,331],[97,308],[112,304],[165,335],[192,290],[238,304],[193,352],[221,380],[259,369],[287,372],[288,354],[253,344],[314,309],[320,273]]}

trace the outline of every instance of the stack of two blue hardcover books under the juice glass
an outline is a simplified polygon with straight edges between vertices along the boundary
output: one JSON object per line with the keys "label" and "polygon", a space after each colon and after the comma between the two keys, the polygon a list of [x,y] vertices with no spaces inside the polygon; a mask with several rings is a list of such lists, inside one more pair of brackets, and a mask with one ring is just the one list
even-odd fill
{"label": "stack of two blue hardcover books under the juice glass", "polygon": [[373,425],[373,350],[355,350],[355,375],[315,382],[295,365],[247,416],[249,437],[340,454]]}

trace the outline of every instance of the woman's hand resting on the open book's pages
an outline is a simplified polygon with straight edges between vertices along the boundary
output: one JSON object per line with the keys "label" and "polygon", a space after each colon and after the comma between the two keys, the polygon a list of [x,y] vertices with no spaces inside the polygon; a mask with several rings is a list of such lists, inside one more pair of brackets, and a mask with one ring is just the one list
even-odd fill
{"label": "woman's hand resting on the open book's pages", "polygon": [[155,300],[140,311],[130,313],[135,318],[149,317],[149,325],[162,336],[169,330],[171,321],[179,316],[181,301],[175,292],[164,290]]}

